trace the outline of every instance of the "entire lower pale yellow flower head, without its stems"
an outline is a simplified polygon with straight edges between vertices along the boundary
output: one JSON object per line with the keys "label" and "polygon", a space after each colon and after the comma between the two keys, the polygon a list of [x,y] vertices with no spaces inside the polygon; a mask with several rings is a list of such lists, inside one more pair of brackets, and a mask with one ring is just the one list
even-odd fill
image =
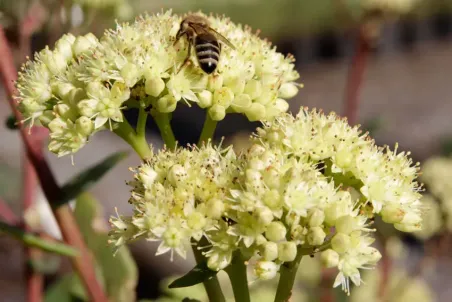
{"label": "entire lower pale yellow flower head, without its stems", "polygon": [[[403,231],[419,229],[417,166],[404,153],[378,148],[334,114],[301,110],[264,123],[252,146],[163,150],[134,170],[133,217],[112,218],[111,241],[161,242],[157,254],[184,256],[203,236],[208,266],[226,268],[236,251],[259,279],[280,266],[321,252],[337,267],[335,285],[359,285],[359,269],[381,255],[370,245],[380,214]],[[356,190],[358,198],[352,197]]]}

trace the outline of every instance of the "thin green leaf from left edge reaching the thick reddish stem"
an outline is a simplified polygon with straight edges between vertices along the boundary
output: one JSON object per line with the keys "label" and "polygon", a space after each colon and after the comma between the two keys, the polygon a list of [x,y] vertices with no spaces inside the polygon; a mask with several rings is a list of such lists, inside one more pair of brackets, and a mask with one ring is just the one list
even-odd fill
{"label": "thin green leaf from left edge reaching the thick reddish stem", "polygon": [[27,246],[36,247],[46,252],[69,257],[74,257],[77,255],[77,250],[69,245],[42,239],[39,236],[27,233],[23,229],[9,225],[3,221],[0,221],[0,232],[22,241]]}

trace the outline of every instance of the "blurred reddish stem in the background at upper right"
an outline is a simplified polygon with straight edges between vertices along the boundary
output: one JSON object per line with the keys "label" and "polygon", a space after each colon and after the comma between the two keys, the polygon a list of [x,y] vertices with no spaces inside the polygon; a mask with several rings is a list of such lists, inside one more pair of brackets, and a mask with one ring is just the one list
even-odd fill
{"label": "blurred reddish stem in the background at upper right", "polygon": [[364,29],[360,29],[356,49],[350,66],[347,86],[345,88],[344,115],[350,124],[355,124],[358,117],[359,91],[363,82],[367,58],[370,53],[369,43]]}

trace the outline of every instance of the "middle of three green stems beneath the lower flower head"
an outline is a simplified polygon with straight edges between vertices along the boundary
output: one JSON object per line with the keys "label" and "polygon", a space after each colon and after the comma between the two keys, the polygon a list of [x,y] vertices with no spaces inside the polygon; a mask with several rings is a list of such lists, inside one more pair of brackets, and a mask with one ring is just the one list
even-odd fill
{"label": "middle of three green stems beneath the lower flower head", "polygon": [[240,256],[240,252],[236,253],[231,264],[225,269],[225,272],[231,280],[235,302],[250,302],[246,265]]}

